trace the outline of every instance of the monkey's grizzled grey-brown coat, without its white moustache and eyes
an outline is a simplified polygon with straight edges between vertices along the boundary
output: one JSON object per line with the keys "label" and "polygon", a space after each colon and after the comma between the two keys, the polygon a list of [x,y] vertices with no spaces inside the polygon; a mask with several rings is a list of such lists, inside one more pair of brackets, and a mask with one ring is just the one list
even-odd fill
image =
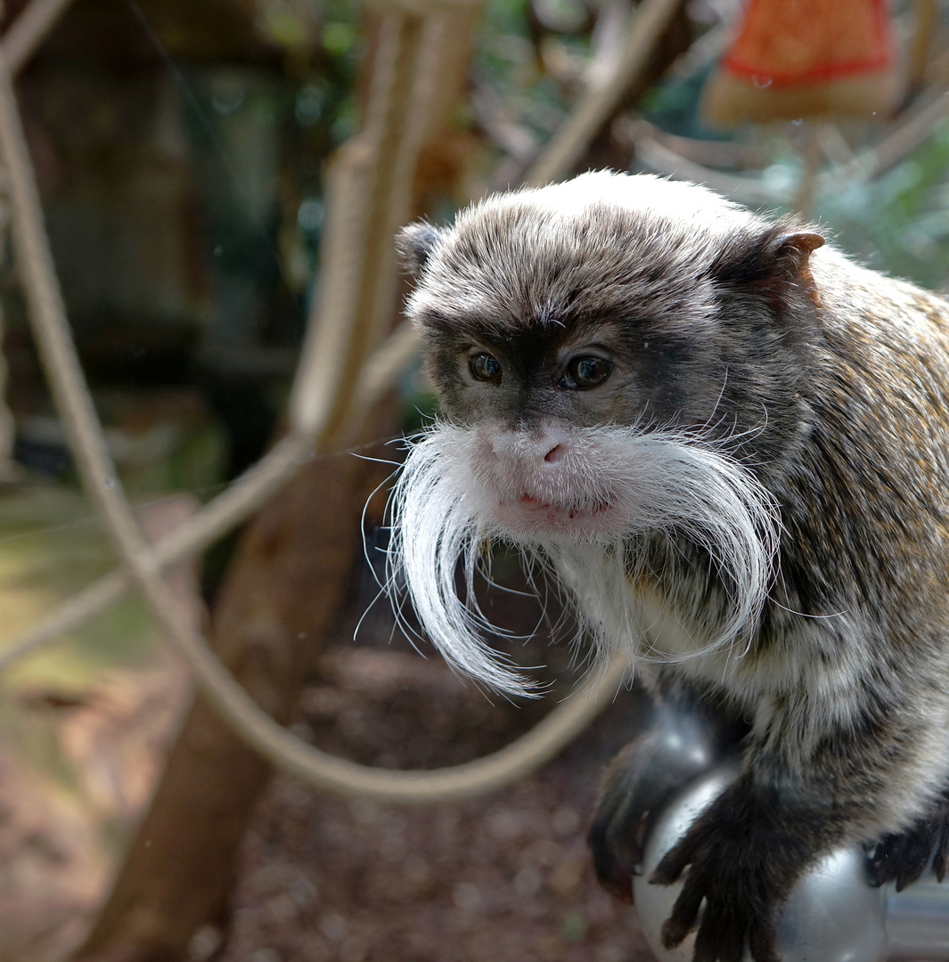
{"label": "monkey's grizzled grey-brown coat, without its white moustache and eyes", "polygon": [[[673,639],[661,657],[669,624],[701,637],[727,602],[701,546],[646,535],[629,563],[636,603],[667,613],[649,616],[648,644],[629,639],[660,656],[657,697],[723,743],[741,738],[738,781],[655,873],[686,877],[668,943],[705,899],[700,962],[738,962],[746,940],[757,962],[776,958],[777,906],[837,844],[876,845],[877,882],[905,884],[934,848],[943,871],[949,305],[812,229],[650,177],[489,198],[399,243],[449,421],[525,437],[551,423],[675,428],[727,450],[778,505],[771,588],[731,649],[679,658]],[[467,373],[473,344],[502,364],[488,388]],[[573,344],[610,359],[602,384],[565,390]],[[674,787],[642,741],[607,774],[591,843],[621,894],[641,823]]]}

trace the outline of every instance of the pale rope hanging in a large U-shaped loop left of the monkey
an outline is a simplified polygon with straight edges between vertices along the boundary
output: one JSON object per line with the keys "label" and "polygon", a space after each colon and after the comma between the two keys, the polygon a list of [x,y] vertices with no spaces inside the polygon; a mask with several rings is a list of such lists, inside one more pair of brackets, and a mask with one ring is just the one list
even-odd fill
{"label": "pale rope hanging in a large U-shaped loop left of the monkey", "polygon": [[[195,631],[187,613],[158,573],[119,489],[115,466],[92,406],[65,319],[62,293],[42,223],[38,191],[20,124],[4,52],[0,50],[0,153],[10,178],[13,239],[40,357],[64,421],[84,484],[99,508],[126,570],[195,672],[205,695],[249,745],[271,763],[311,784],[344,794],[393,801],[466,797],[495,787],[533,767],[562,746],[564,729],[577,726],[608,700],[626,665],[614,666],[603,684],[583,686],[574,697],[518,743],[487,759],[445,772],[385,772],[326,755],[295,738],[237,685]],[[612,683],[612,684],[610,684]]]}

